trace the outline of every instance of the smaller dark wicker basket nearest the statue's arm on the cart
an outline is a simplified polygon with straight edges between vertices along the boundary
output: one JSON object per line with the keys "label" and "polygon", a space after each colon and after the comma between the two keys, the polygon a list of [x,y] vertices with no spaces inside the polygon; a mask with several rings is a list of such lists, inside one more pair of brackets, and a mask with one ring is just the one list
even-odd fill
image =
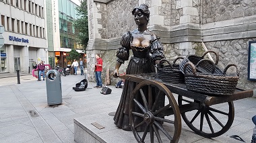
{"label": "smaller dark wicker basket nearest the statue's arm on the cart", "polygon": [[[158,63],[158,78],[166,83],[184,83],[184,75],[181,73],[181,70],[179,68],[179,64],[176,64],[178,59],[181,59],[183,57],[176,58],[172,64],[165,58],[159,61]],[[167,62],[167,65],[164,65],[164,62]]]}

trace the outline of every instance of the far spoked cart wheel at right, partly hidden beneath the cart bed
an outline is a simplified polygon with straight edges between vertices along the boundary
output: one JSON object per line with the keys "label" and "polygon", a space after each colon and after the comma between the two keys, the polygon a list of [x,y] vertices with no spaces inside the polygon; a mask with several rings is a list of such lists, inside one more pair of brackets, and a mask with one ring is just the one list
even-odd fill
{"label": "far spoked cart wheel at right, partly hidden beneath the cart bed", "polygon": [[234,103],[232,101],[217,105],[205,105],[179,95],[179,105],[198,103],[197,109],[181,113],[183,120],[195,132],[205,138],[215,138],[228,131],[234,120]]}

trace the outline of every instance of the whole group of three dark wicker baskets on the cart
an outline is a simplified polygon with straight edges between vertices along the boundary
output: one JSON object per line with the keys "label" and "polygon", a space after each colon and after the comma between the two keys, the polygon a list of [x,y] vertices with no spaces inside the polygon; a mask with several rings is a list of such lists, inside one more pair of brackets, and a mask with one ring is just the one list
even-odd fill
{"label": "whole group of three dark wicker baskets on the cart", "polygon": [[[207,53],[214,53],[215,62],[204,59]],[[223,72],[217,64],[219,56],[214,51],[207,51],[203,56],[189,55],[183,58],[181,64],[172,64],[166,59],[160,60],[158,64],[158,78],[166,83],[184,83],[190,91],[205,93],[207,95],[232,95],[236,89],[239,79],[239,70],[235,64],[228,64]],[[167,65],[164,63],[168,63]],[[236,67],[236,75],[226,75],[230,66]]]}

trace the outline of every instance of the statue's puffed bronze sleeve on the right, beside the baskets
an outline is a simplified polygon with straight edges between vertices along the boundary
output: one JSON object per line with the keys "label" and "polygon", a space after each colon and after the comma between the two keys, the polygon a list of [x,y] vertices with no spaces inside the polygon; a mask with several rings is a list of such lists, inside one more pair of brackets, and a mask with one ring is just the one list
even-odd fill
{"label": "statue's puffed bronze sleeve on the right, beside the baskets", "polygon": [[160,38],[156,38],[152,41],[151,44],[151,51],[152,54],[152,62],[155,63],[156,60],[161,60],[162,58],[165,58],[164,56],[164,47],[162,46],[162,43],[159,41]]}

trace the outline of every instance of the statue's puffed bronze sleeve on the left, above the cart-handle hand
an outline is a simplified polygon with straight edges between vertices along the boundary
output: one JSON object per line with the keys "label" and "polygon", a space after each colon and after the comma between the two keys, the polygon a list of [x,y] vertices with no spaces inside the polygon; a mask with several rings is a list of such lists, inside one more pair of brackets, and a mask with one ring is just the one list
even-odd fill
{"label": "statue's puffed bronze sleeve on the left, above the cart-handle hand", "polygon": [[121,63],[125,63],[125,60],[129,59],[130,40],[131,40],[130,32],[123,34],[123,37],[121,38],[122,47],[117,49],[117,61]]}

